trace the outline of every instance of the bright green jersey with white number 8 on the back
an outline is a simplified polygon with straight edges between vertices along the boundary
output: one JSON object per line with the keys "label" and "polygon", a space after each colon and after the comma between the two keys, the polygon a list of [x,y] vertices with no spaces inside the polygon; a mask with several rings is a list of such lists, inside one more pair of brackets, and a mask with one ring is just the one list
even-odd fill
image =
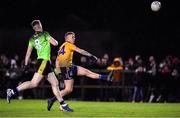
{"label": "bright green jersey with white number 8 on the back", "polygon": [[32,46],[37,51],[38,59],[50,60],[51,46],[49,40],[51,36],[48,32],[43,31],[34,34],[29,40],[29,46]]}

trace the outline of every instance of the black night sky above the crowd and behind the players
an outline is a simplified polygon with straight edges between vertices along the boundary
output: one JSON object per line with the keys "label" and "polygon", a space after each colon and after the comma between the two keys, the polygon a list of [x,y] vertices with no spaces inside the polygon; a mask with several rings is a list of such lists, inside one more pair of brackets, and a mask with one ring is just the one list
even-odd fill
{"label": "black night sky above the crowd and behind the players", "polygon": [[[77,34],[76,44],[97,56],[179,56],[178,1],[153,0],[4,0],[0,4],[0,53],[24,56],[30,23],[40,19],[60,44],[66,31]],[[57,50],[54,49],[54,52]]]}

